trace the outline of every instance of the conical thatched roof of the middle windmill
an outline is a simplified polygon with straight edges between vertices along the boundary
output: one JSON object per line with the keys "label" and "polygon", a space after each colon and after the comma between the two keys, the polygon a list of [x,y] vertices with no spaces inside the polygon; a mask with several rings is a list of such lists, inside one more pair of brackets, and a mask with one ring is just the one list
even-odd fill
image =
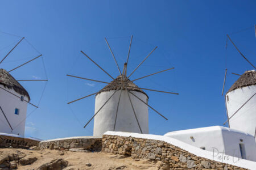
{"label": "conical thatched roof of the middle windmill", "polygon": [[[98,91],[98,94],[100,94],[101,92],[104,92],[104,91],[121,90],[121,84],[122,84],[122,76],[119,75],[116,79],[114,79],[112,82],[110,82],[107,86],[105,86],[100,91]],[[127,78],[125,78],[125,80],[124,80],[123,90],[125,90],[125,87],[127,87],[127,90],[138,91],[147,96],[147,94],[144,91],[142,91],[138,86],[136,86],[136,84],[134,84],[133,82],[131,82],[131,80],[129,80]],[[148,96],[147,96],[147,98],[148,98]]]}

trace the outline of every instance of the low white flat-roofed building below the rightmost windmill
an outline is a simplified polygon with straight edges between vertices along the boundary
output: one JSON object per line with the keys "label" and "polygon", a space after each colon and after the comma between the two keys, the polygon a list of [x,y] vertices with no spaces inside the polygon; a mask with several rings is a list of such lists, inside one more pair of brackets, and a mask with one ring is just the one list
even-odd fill
{"label": "low white flat-roofed building below the rightmost windmill", "polygon": [[245,147],[246,159],[256,162],[256,142],[254,137],[242,131],[222,126],[211,126],[172,131],[164,134],[164,136],[178,139],[197,148],[205,147],[207,151],[224,152],[226,155],[236,158],[241,158],[241,143]]}

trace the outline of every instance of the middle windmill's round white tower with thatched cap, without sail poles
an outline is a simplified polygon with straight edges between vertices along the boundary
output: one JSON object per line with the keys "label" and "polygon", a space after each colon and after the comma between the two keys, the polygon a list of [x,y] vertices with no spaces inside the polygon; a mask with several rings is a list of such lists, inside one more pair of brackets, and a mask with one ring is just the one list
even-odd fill
{"label": "middle windmill's round white tower with thatched cap, without sail poles", "polygon": [[[127,89],[123,88],[118,107],[122,83],[126,84]],[[97,113],[97,116],[94,117],[94,136],[101,136],[108,130],[134,133],[141,133],[142,131],[144,134],[148,133],[148,107],[146,104],[139,101],[139,99],[137,99],[135,96],[128,94],[127,90],[147,103],[148,96],[145,92],[139,89],[139,87],[129,79],[125,78],[125,80],[122,80],[122,76],[118,76],[111,83],[102,88],[102,90],[100,90],[95,97],[96,113],[116,91],[108,103],[106,103],[100,112]],[[133,104],[133,107],[131,103]],[[136,115],[133,112],[133,108]],[[141,127],[141,130],[139,126]]]}

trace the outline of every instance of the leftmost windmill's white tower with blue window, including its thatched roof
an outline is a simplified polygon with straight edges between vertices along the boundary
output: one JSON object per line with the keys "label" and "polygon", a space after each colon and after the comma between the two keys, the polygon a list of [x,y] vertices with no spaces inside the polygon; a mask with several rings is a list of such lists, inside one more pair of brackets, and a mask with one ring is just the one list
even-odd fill
{"label": "leftmost windmill's white tower with blue window, including its thatched roof", "polygon": [[0,133],[24,137],[28,92],[6,70],[0,69]]}

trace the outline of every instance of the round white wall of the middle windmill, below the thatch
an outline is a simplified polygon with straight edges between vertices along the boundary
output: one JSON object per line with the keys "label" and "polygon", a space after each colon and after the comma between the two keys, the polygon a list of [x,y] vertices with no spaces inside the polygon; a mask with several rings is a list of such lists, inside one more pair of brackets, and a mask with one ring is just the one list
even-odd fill
{"label": "round white wall of the middle windmill, below the thatch", "polygon": [[[115,92],[112,99],[101,109],[101,111],[94,117],[94,128],[93,135],[101,136],[108,130],[114,130],[115,114],[117,111],[117,104],[119,99],[119,94],[121,91]],[[144,102],[147,103],[147,96],[141,92],[131,91],[133,94],[137,95]],[[106,100],[114,93],[114,91],[101,92],[96,95],[95,99],[95,113]],[[136,97],[130,94],[131,101],[133,103],[139,125],[141,126],[143,133],[148,133],[148,107],[146,104],[139,101]],[[115,125],[115,131],[127,131],[134,133],[141,133],[139,130],[138,123],[135,119],[133,109],[129,101],[127,91],[122,91],[122,96],[119,103],[119,109],[117,114],[117,122]]]}

